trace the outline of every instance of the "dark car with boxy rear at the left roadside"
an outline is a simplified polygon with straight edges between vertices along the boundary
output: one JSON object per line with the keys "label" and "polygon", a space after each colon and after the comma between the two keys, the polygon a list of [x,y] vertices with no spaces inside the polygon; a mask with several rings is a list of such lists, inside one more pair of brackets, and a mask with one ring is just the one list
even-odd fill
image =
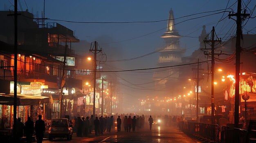
{"label": "dark car with boxy rear at the left roadside", "polygon": [[59,118],[52,119],[49,127],[49,141],[54,138],[67,138],[67,140],[72,139],[73,129],[72,125],[68,119]]}

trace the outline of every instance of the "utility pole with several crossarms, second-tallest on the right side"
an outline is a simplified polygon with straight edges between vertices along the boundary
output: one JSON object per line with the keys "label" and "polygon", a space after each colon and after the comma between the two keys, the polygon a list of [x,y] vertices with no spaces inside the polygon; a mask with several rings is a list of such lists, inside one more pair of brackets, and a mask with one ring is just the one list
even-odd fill
{"label": "utility pole with several crossarms, second-tallest on the right side", "polygon": [[211,55],[211,123],[214,124],[215,123],[215,119],[214,119],[214,65],[215,65],[215,59],[214,59],[214,55],[221,55],[221,53],[219,54],[215,54],[214,53],[214,46],[215,46],[215,42],[221,42],[221,40],[214,40],[214,34],[215,34],[215,29],[213,26],[213,29],[211,31],[211,40],[204,40],[205,43],[211,45],[211,48],[204,48],[204,50],[211,50],[210,53],[204,53],[205,55]]}

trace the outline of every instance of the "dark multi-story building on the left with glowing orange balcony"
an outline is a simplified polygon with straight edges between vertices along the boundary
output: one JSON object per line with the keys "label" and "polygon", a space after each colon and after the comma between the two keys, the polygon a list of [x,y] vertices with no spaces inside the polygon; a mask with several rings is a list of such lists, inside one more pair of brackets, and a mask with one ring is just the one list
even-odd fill
{"label": "dark multi-story building on the left with glowing orange balcony", "polygon": [[[72,30],[61,24],[39,25],[33,20],[32,13],[28,11],[18,13],[18,100],[21,98],[19,96],[27,99],[26,103],[18,104],[20,105],[17,110],[18,117],[22,117],[22,121],[27,119],[27,115],[36,120],[37,114],[42,114],[44,119],[56,118],[60,111],[59,91],[63,79],[64,55],[67,57],[65,67],[67,85],[68,80],[75,77],[73,69],[76,66],[76,56],[71,45],[79,40],[74,37]],[[8,14],[13,14],[13,11],[0,11],[0,19],[4,21],[0,24],[0,79],[3,83],[0,91],[5,93],[0,96],[1,99],[7,95],[11,97],[9,94],[13,93],[14,22],[13,17],[7,16]],[[76,86],[79,85],[70,84],[70,87]],[[77,101],[72,97],[72,91],[73,89],[67,94],[68,96],[64,95],[63,114],[67,114],[68,109],[76,105]],[[49,98],[44,102],[38,99],[38,103],[29,100],[38,96]],[[5,127],[9,127],[12,125],[12,106],[10,106],[12,104],[6,104],[4,101],[0,104],[2,104],[0,105],[1,123],[6,123]],[[77,114],[76,111],[74,114]]]}

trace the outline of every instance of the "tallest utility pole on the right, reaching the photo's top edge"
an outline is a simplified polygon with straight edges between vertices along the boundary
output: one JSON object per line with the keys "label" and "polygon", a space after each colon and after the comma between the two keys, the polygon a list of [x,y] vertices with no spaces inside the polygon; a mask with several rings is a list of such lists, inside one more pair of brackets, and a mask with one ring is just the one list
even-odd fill
{"label": "tallest utility pole on the right, reaching the photo's top edge", "polygon": [[[237,1],[237,13],[229,14],[231,16],[236,16],[236,86],[235,86],[235,128],[238,128],[239,125],[239,83],[240,83],[240,38],[242,37],[242,20],[249,16],[247,13],[241,14],[241,0]],[[231,18],[232,19],[232,18]]]}

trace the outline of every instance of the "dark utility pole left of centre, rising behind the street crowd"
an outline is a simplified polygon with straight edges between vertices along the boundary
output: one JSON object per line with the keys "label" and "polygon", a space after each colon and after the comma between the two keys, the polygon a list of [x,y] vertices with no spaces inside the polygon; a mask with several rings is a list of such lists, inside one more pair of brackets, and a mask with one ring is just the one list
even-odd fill
{"label": "dark utility pole left of centre, rising behind the street crowd", "polygon": [[101,52],[101,49],[98,50],[97,41],[94,42],[94,48],[91,47],[90,52],[94,53],[94,87],[93,87],[93,117],[95,117],[95,91],[96,91],[96,71],[97,71],[97,53]]}

